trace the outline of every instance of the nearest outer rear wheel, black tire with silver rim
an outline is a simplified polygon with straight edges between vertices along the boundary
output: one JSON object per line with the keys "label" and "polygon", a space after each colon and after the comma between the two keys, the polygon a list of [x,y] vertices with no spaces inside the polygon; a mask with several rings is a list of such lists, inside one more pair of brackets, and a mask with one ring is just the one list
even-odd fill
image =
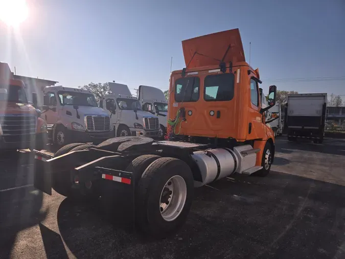
{"label": "nearest outer rear wheel, black tire with silver rim", "polygon": [[[173,195],[170,198],[169,205],[161,203],[163,190],[168,185],[171,186],[170,188],[180,186],[180,189],[175,189],[175,196]],[[185,162],[166,157],[153,161],[146,168],[137,186],[135,195],[136,226],[155,238],[164,238],[174,233],[187,220],[192,205],[193,192],[192,171]],[[185,198],[183,198],[183,195],[182,197],[176,196],[177,193],[185,193]],[[176,200],[176,198],[178,199]],[[176,202],[181,200],[185,200],[185,203]],[[171,212],[176,204],[178,204],[179,209],[173,210],[174,213],[171,213],[170,218],[168,218],[169,214],[167,213]],[[161,210],[165,213],[162,214]]]}

